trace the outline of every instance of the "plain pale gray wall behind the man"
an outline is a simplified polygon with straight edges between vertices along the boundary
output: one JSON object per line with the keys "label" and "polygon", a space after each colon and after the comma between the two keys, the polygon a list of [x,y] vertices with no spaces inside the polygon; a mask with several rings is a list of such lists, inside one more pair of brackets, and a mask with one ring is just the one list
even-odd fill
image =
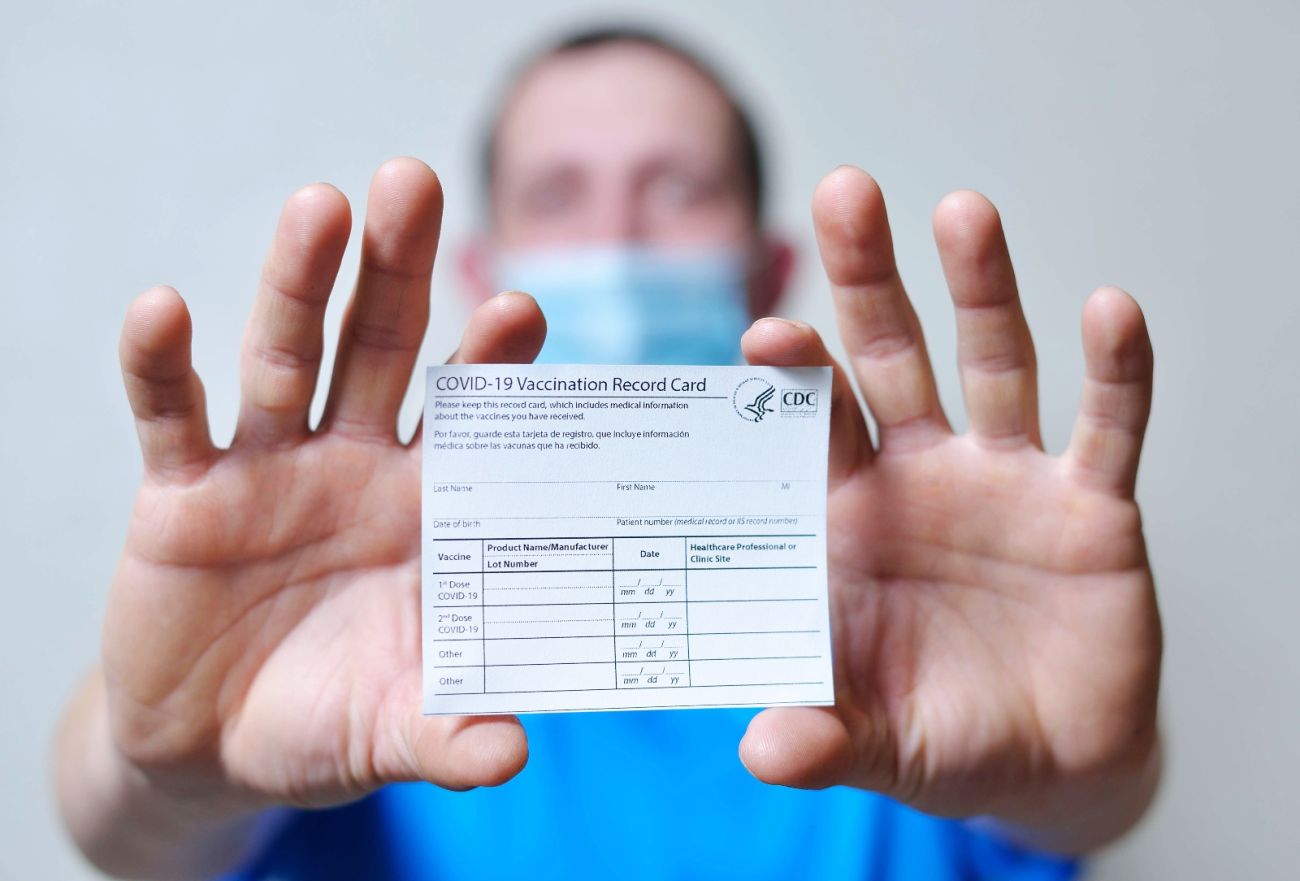
{"label": "plain pale gray wall behind the man", "polygon": [[[139,476],[116,364],[129,299],[157,282],[188,299],[214,430],[229,438],[237,344],[282,199],[329,179],[360,209],[374,166],[413,153],[442,174],[452,253],[474,222],[473,147],[499,77],[590,12],[0,8],[0,877],[94,877],[56,824],[48,745],[95,656]],[[621,12],[711,49],[758,109],[774,221],[803,247],[788,313],[832,326],[807,220],[815,182],[837,162],[876,174],[954,418],[930,231],[949,190],[982,190],[1002,211],[1049,450],[1076,403],[1084,296],[1112,282],[1140,299],[1157,389],[1139,498],[1165,613],[1170,763],[1154,812],[1095,877],[1296,877],[1300,6]],[[355,265],[352,249],[341,292]],[[454,281],[445,261],[429,360],[465,314]]]}

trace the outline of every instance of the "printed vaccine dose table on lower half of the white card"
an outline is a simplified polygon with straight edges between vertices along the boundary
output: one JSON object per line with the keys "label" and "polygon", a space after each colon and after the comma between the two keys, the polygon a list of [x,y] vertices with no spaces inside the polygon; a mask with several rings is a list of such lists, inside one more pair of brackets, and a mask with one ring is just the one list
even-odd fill
{"label": "printed vaccine dose table on lower half of the white card", "polygon": [[[439,695],[824,685],[811,535],[434,541]],[[667,699],[679,704],[680,695]]]}

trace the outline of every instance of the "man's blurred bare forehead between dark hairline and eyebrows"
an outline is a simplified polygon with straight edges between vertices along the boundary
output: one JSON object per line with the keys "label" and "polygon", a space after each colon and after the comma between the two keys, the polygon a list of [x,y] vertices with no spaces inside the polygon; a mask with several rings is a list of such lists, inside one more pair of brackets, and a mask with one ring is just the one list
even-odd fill
{"label": "man's blurred bare forehead between dark hairline and eyebrows", "polygon": [[632,42],[540,60],[507,99],[497,129],[498,160],[542,159],[564,144],[619,149],[680,143],[733,149],[734,117],[719,86],[689,61]]}

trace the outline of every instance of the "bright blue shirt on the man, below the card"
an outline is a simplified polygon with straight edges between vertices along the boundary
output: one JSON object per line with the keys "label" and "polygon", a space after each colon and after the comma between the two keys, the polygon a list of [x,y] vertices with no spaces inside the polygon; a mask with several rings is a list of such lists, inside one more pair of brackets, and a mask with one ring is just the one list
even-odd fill
{"label": "bright blue shirt on the man, below the card", "polygon": [[758,782],[736,755],[754,712],[524,716],[529,761],[515,780],[399,784],[303,811],[228,881],[1076,877],[1072,860],[880,795]]}

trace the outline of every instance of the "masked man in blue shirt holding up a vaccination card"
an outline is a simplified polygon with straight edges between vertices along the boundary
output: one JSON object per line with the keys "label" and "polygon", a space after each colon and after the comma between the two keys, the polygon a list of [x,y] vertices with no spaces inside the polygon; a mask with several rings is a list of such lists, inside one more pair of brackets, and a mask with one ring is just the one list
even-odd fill
{"label": "masked man in blue shirt holding up a vaccination card", "polygon": [[[536,288],[549,327],[529,296],[485,299],[454,360],[724,360],[736,316],[771,309],[789,269],[760,226],[760,181],[744,113],[676,47],[603,32],[545,53],[494,125],[489,229],[462,269],[481,298]],[[211,443],[178,295],[131,305],[121,356],[146,476],[103,664],[58,742],[61,810],[91,860],[148,877],[1041,878],[1072,873],[1049,854],[1138,820],[1158,777],[1161,656],[1132,499],[1150,400],[1141,313],[1113,287],[1088,299],[1079,420],[1046,456],[997,212],[949,195],[935,234],[971,426],[954,435],[880,191],[852,168],[812,200],[879,428],[836,365],[836,707],[421,716],[420,448],[398,439],[396,412],[441,208],[422,164],[376,174],[315,430],[350,233],[338,191],[285,205],[230,450]],[[682,290],[715,316],[685,344]],[[602,322],[584,325],[588,309]],[[800,322],[760,320],[742,347],[755,364],[832,364]],[[399,781],[425,782],[385,786]]]}

